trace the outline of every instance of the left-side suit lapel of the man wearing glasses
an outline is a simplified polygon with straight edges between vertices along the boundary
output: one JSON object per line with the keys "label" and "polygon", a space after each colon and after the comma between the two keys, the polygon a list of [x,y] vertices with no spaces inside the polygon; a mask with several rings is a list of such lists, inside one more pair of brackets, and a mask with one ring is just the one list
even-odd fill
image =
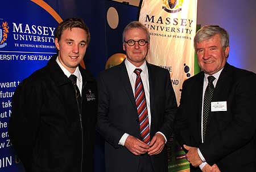
{"label": "left-side suit lapel of the man wearing glasses", "polygon": [[121,63],[121,65],[119,66],[119,78],[121,80],[121,84],[123,85],[123,88],[125,88],[125,91],[131,101],[131,104],[134,107],[134,110],[137,113],[137,108],[136,108],[136,104],[135,104],[135,98],[134,98],[134,94],[133,94],[133,88],[131,88],[131,83],[130,83],[130,79],[128,76],[128,72],[126,70],[126,66],[125,66],[125,61],[123,61]]}

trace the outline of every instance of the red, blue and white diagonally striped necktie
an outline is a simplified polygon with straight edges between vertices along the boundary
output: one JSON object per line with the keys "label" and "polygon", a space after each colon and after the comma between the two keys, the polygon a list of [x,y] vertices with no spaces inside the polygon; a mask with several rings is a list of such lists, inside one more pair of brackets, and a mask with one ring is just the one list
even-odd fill
{"label": "red, blue and white diagonally striped necktie", "polygon": [[141,80],[141,72],[140,68],[136,68],[134,73],[137,75],[135,81],[135,101],[137,106],[137,111],[139,115],[139,127],[141,129],[141,137],[142,141],[146,144],[150,143],[150,128],[148,122],[148,114],[147,114],[147,102],[146,96],[144,92],[143,83]]}

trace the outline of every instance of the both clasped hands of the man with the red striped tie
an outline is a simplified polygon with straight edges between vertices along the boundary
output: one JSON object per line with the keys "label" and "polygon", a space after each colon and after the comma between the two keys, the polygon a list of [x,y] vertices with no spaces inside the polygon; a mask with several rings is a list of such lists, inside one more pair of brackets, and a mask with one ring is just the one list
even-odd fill
{"label": "both clasped hands of the man with the red striped tie", "polygon": [[147,153],[152,156],[160,153],[163,150],[165,141],[164,136],[159,133],[152,137],[149,145],[136,137],[129,135],[125,141],[125,147],[135,155]]}

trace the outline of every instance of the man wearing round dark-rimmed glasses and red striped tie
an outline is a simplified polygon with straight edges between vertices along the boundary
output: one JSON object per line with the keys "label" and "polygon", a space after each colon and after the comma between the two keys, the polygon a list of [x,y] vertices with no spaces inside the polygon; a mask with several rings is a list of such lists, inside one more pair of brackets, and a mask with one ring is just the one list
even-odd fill
{"label": "man wearing round dark-rimmed glasses and red striped tie", "polygon": [[147,28],[133,21],[123,31],[127,58],[98,76],[97,130],[105,138],[106,171],[167,171],[164,144],[177,104],[170,74],[146,62]]}

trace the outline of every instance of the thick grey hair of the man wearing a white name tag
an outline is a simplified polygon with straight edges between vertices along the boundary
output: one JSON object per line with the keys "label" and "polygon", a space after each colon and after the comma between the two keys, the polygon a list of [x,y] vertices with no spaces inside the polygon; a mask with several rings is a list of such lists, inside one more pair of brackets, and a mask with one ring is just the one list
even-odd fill
{"label": "thick grey hair of the man wearing a white name tag", "polygon": [[217,34],[220,35],[222,49],[227,48],[229,46],[229,34],[224,28],[221,28],[218,25],[205,25],[199,29],[194,38],[194,48],[196,49],[196,43],[209,40],[209,38]]}

